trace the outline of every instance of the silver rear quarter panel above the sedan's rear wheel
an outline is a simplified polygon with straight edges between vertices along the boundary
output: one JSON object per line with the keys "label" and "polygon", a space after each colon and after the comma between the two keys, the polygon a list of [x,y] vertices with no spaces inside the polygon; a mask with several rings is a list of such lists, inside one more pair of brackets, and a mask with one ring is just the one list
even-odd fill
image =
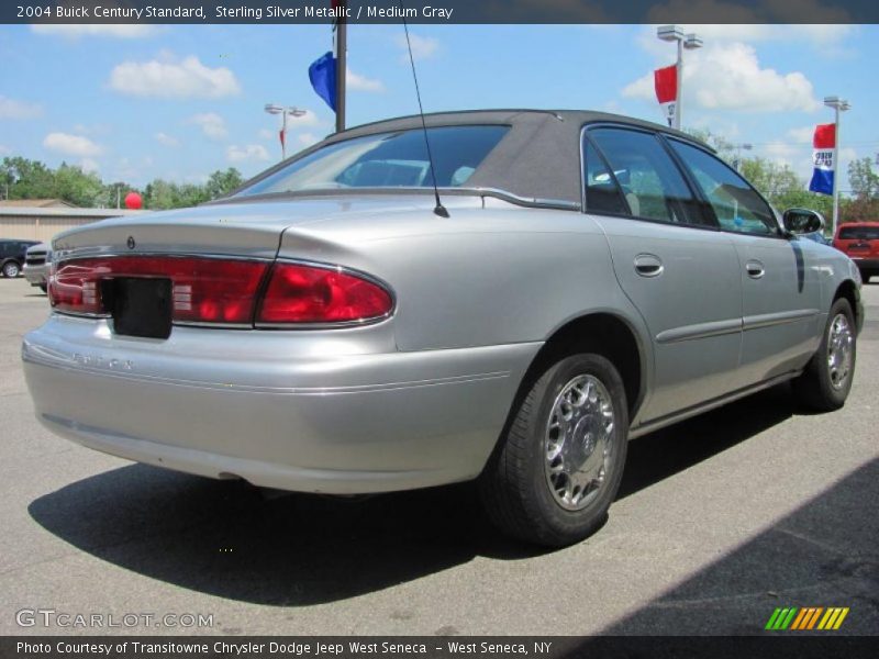
{"label": "silver rear quarter panel above the sedan's rear wheel", "polygon": [[397,297],[402,351],[545,342],[587,313],[612,313],[653,356],[643,321],[619,288],[607,238],[588,215],[487,200],[487,206],[389,212],[285,232],[279,257],[363,270]]}

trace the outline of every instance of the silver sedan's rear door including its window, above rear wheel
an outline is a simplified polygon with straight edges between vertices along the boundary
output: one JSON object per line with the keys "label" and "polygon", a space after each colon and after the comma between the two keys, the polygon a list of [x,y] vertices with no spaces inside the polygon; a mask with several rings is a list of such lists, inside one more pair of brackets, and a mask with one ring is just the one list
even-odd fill
{"label": "silver sedan's rear door including its window, above rear wheel", "polygon": [[586,208],[603,227],[620,286],[654,344],[642,422],[730,392],[742,342],[742,279],[728,236],[703,213],[650,132],[587,129]]}

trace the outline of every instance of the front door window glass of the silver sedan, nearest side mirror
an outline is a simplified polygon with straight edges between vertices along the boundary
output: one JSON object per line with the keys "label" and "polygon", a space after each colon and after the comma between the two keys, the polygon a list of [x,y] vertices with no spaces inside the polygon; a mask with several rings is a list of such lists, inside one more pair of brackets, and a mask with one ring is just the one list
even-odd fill
{"label": "front door window glass of the silver sedan, nearest side mirror", "polygon": [[670,143],[702,189],[721,228],[757,235],[778,234],[772,209],[745,179],[701,148],[676,139]]}

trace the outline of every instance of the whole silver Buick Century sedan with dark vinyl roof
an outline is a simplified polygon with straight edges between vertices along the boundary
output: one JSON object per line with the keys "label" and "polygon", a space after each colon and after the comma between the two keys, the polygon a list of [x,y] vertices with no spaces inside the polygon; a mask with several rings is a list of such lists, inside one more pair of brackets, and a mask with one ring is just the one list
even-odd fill
{"label": "whole silver Buick Century sedan with dark vinyl roof", "polygon": [[627,439],[786,380],[844,404],[860,278],[799,237],[822,222],[652,123],[397,119],[58,235],[22,357],[40,421],[90,448],[329,494],[478,479],[501,529],[560,546]]}

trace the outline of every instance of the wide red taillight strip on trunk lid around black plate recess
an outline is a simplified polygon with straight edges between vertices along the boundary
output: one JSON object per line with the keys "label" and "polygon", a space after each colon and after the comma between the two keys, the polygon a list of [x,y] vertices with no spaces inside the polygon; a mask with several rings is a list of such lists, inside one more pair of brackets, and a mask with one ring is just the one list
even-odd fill
{"label": "wide red taillight strip on trunk lid around black plate recess", "polygon": [[174,256],[120,256],[62,263],[49,281],[49,300],[58,311],[105,314],[101,282],[114,277],[158,277],[173,284],[175,322],[249,324],[262,261]]}

